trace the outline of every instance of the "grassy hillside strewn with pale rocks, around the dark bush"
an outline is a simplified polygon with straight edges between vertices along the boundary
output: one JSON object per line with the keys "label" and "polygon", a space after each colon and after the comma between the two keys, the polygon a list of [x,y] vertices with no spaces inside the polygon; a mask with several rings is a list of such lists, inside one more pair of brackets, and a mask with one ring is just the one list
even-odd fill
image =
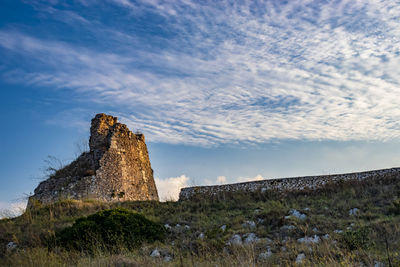
{"label": "grassy hillside strewn with pale rocks, around the dark bush", "polygon": [[[113,207],[164,225],[166,238],[91,253],[56,242],[77,218]],[[61,200],[0,221],[0,265],[399,266],[399,225],[397,174],[315,191],[225,192],[180,202]]]}

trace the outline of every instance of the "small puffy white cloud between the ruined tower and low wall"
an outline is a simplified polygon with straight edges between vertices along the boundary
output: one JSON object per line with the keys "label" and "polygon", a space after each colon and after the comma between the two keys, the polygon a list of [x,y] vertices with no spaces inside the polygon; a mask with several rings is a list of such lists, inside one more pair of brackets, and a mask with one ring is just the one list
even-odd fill
{"label": "small puffy white cloud between the ruined tower and low wall", "polygon": [[161,201],[178,200],[181,188],[187,187],[190,178],[181,175],[179,177],[170,177],[166,179],[156,178],[158,196]]}

